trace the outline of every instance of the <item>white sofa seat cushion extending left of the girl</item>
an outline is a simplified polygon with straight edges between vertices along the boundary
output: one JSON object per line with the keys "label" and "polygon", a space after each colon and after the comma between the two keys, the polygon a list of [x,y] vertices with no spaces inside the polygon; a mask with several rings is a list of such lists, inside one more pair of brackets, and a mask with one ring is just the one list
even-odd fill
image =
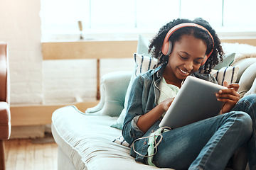
{"label": "white sofa seat cushion extending left of the girl", "polygon": [[75,106],[66,106],[53,113],[53,137],[75,169],[119,170],[124,165],[129,165],[125,167],[127,170],[157,169],[135,162],[129,155],[129,147],[112,142],[121,133],[110,127],[115,120],[108,115],[87,115]]}

